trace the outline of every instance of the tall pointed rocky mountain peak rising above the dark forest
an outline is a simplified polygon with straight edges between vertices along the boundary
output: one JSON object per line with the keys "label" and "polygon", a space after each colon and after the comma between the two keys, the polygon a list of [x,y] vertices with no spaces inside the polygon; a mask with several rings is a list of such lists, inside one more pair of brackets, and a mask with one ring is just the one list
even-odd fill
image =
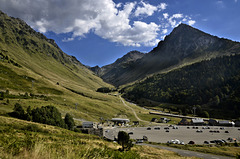
{"label": "tall pointed rocky mountain peak rising above the dark forest", "polygon": [[[105,81],[115,86],[134,82],[148,75],[169,71],[184,65],[222,55],[239,53],[240,44],[209,35],[186,24],[173,29],[164,41],[141,59],[129,63],[121,73],[101,74]],[[116,68],[117,69],[117,68]],[[111,76],[112,75],[112,76]],[[114,78],[111,78],[114,77]]]}

